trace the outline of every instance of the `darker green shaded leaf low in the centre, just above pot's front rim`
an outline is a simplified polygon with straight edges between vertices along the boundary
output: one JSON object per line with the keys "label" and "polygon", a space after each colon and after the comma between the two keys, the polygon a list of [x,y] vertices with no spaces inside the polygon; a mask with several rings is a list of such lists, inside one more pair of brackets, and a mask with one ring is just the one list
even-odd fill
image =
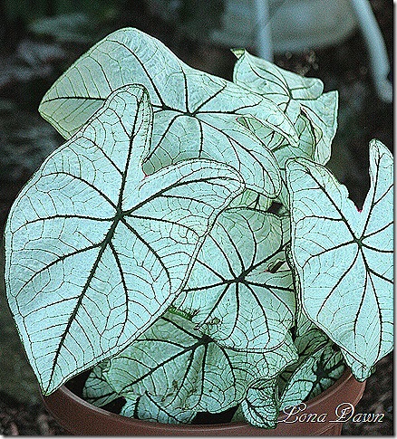
{"label": "darker green shaded leaf low in the centre, just above pot's front rim", "polygon": [[221,348],[189,320],[166,313],[103,374],[119,395],[148,395],[170,415],[218,413],[237,406],[257,377],[276,377],[295,359],[291,340],[265,354]]}

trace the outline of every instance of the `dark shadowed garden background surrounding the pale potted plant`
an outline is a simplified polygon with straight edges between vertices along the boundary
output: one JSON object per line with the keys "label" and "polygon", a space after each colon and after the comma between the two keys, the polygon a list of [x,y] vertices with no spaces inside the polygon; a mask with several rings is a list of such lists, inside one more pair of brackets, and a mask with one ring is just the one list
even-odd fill
{"label": "dark shadowed garden background surrounding the pale potted plant", "polygon": [[[288,1],[288,0],[284,0]],[[283,0],[282,0],[283,2]],[[231,80],[234,55],[211,43],[221,25],[224,0],[164,0],[156,14],[144,0],[4,0],[0,2],[0,230],[18,191],[63,139],[41,119],[37,107],[53,81],[92,43],[124,26],[159,38],[192,67]],[[392,63],[391,0],[371,0]],[[159,12],[159,11],[157,11]],[[248,44],[255,52],[255,40]],[[373,88],[369,56],[356,29],[343,43],[305,52],[276,54],[275,62],[324,81],[340,96],[339,128],[329,164],[357,205],[368,190],[368,142],[379,138],[392,150],[392,104]],[[390,74],[392,79],[392,72]],[[0,434],[65,434],[41,404],[36,380],[5,304],[0,257]],[[392,354],[383,358],[356,412],[384,413],[382,423],[347,422],[343,434],[391,435]]]}

